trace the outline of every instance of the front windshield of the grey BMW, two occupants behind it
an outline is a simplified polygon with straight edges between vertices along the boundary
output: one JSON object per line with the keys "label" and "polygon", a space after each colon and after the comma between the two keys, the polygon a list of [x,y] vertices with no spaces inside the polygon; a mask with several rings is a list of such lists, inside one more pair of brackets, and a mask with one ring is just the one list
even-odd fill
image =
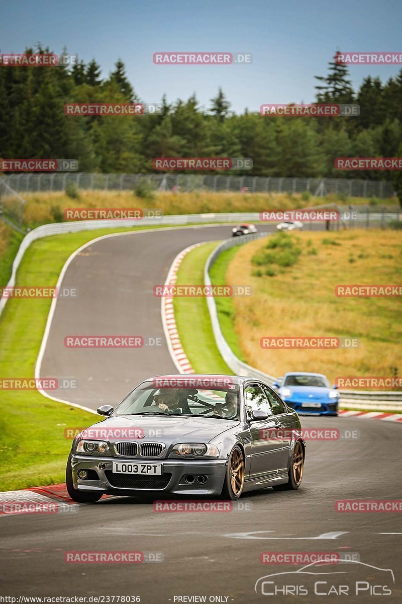
{"label": "front windshield of the grey BMW, two occupants behind it", "polygon": [[155,388],[142,384],[118,406],[114,416],[184,415],[239,419],[239,387],[201,390],[197,388]]}

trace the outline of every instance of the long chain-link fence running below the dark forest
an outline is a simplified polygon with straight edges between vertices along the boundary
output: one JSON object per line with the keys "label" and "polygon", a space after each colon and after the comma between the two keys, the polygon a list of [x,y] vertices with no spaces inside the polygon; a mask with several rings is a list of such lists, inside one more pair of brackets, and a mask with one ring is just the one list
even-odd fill
{"label": "long chain-link fence running below the dark forest", "polygon": [[98,174],[24,173],[11,174],[8,184],[15,191],[64,191],[68,185],[87,190],[133,190],[146,181],[159,191],[242,191],[243,193],[309,193],[313,196],[336,194],[345,197],[390,198],[391,182],[347,178],[288,178],[277,176],[214,176],[198,174]]}

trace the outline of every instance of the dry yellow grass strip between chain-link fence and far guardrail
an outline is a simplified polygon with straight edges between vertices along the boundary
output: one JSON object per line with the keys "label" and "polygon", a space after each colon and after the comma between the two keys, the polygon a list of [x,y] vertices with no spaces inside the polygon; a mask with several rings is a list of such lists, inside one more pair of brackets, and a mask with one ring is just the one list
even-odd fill
{"label": "dry yellow grass strip between chain-link fence and far guardrail", "polygon": [[[45,222],[60,222],[64,208],[158,208],[163,214],[198,214],[219,212],[260,212],[262,210],[290,210],[307,206],[338,202],[335,196],[325,198],[302,197],[300,194],[264,193],[214,193],[193,191],[191,193],[157,193],[154,199],[140,199],[132,191],[79,191],[78,199],[69,198],[64,191],[51,193],[21,193],[27,204],[24,206],[24,223],[27,225]],[[395,200],[383,200],[385,204]],[[15,200],[4,200],[7,206]],[[351,198],[351,204],[367,204],[368,199]],[[11,208],[10,208],[11,209]]]}

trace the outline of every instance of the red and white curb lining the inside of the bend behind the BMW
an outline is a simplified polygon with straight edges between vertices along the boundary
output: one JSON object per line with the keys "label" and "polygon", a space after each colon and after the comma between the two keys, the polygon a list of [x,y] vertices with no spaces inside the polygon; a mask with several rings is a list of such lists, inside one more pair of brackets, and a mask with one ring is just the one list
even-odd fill
{"label": "red and white curb lining the inside of the bend behind the BMW", "polygon": [[[203,245],[205,242],[194,243],[190,245],[188,248],[183,249],[180,254],[177,254],[175,257],[171,268],[168,272],[168,277],[166,277],[165,285],[175,285],[177,282],[177,271],[180,267],[181,261],[184,256],[186,256],[192,249],[199,248],[200,245]],[[192,365],[189,359],[186,356],[186,353],[183,350],[183,346],[180,342],[180,337],[178,335],[174,309],[173,309],[173,297],[162,298],[161,303],[161,312],[162,312],[162,324],[163,330],[165,332],[166,342],[168,343],[169,353],[171,354],[172,361],[176,365],[179,373],[195,373],[192,368]]]}

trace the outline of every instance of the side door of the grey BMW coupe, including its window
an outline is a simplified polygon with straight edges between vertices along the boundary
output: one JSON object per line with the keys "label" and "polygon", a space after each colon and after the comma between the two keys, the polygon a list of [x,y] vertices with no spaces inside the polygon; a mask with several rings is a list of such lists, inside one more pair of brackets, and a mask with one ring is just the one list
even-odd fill
{"label": "side door of the grey BMW coupe, including its window", "polygon": [[[271,405],[258,382],[245,385],[244,401],[251,435],[250,478],[271,477],[277,474],[281,459],[280,422],[272,413]],[[266,420],[255,421],[252,412],[265,411]]]}

